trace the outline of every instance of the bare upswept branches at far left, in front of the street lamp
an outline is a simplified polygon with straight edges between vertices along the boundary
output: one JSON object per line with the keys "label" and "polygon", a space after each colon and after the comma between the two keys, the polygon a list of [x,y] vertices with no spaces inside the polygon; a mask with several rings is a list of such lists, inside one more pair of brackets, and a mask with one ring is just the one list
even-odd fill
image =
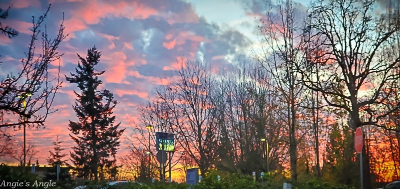
{"label": "bare upswept branches at far left, in front of the street lamp", "polygon": [[[49,9],[50,5],[38,19],[32,16],[32,34],[28,51],[25,53],[26,58],[21,59],[22,69],[17,74],[10,73],[0,82],[0,128],[44,126],[47,116],[56,111],[51,105],[57,89],[61,86],[59,64],[58,76],[55,78],[49,76],[48,69],[53,61],[62,56],[57,48],[66,35],[63,34],[63,21],[54,39],[48,37],[46,29],[40,32],[40,26]],[[7,15],[7,11],[0,13],[3,17]],[[35,42],[39,35],[42,38],[42,48],[40,54],[36,54]],[[24,101],[26,103],[22,105]]]}

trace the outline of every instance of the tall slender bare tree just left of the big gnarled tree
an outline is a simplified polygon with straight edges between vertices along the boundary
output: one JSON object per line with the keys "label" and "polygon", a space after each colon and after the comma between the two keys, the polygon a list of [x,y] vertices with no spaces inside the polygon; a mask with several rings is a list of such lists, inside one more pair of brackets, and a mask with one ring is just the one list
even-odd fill
{"label": "tall slender bare tree just left of the big gnarled tree", "polygon": [[303,87],[296,73],[300,61],[301,34],[305,16],[291,0],[278,0],[262,19],[261,51],[256,60],[271,74],[270,86],[279,92],[282,121],[287,126],[291,179],[297,179],[298,112]]}

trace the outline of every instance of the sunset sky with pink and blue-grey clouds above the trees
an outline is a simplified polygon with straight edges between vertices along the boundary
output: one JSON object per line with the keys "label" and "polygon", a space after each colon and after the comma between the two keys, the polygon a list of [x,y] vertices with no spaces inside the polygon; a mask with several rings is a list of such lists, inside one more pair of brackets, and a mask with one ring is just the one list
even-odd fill
{"label": "sunset sky with pink and blue-grey clouds above the trees", "polygon": [[[74,72],[76,53],[85,57],[87,49],[96,46],[102,53],[96,70],[105,70],[100,77],[105,88],[119,104],[114,109],[116,122],[126,128],[122,141],[131,134],[132,121],[138,121],[137,108],[154,96],[159,85],[178,68],[182,59],[204,60],[223,68],[239,58],[250,57],[257,45],[257,16],[262,15],[265,0],[0,0],[0,8],[9,10],[6,20],[20,33],[8,39],[0,36],[1,79],[15,73],[25,57],[29,42],[32,15],[38,17],[51,3],[45,19],[47,32],[54,37],[64,13],[65,32],[59,52],[62,87],[56,94],[54,108],[46,127],[27,130],[27,141],[40,151],[41,165],[52,150],[56,136],[69,151],[73,141],[68,136],[68,120],[77,121],[72,104],[75,84],[64,75]],[[300,1],[306,5],[306,1]],[[43,25],[44,26],[44,25]],[[42,27],[42,30],[44,28]],[[37,49],[40,39],[37,41]],[[58,62],[55,62],[58,63]],[[55,68],[53,65],[52,68]],[[52,72],[52,77],[55,77]],[[173,78],[172,78],[173,79]],[[79,92],[79,91],[78,91]],[[12,131],[20,140],[22,131]],[[125,145],[120,146],[123,154]],[[34,160],[35,161],[35,160]]]}

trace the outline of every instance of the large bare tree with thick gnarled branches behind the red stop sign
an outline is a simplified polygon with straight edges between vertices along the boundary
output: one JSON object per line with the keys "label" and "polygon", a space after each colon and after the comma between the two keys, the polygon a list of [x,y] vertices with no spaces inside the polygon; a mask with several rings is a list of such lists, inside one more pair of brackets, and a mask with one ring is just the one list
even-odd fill
{"label": "large bare tree with thick gnarled branches behind the red stop sign", "polygon": [[[349,113],[351,129],[365,125],[386,128],[381,120],[397,109],[389,103],[399,66],[391,41],[400,29],[398,10],[376,16],[375,0],[317,0],[305,32],[322,38],[319,51],[299,66],[303,84],[320,92],[329,106]],[[309,62],[319,70],[307,69]],[[316,72],[317,71],[317,72]],[[315,78],[310,78],[313,75]],[[369,160],[363,150],[364,187],[370,189]]]}

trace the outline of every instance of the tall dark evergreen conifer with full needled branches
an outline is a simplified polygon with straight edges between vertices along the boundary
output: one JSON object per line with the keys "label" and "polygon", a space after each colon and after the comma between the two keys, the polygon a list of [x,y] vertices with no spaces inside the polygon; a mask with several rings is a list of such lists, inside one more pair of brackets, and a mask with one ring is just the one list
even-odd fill
{"label": "tall dark evergreen conifer with full needled branches", "polygon": [[76,74],[70,73],[66,77],[70,83],[78,85],[81,93],[73,91],[76,96],[73,106],[78,122],[69,121],[68,129],[75,141],[71,161],[75,166],[77,177],[88,179],[104,179],[107,175],[115,177],[115,154],[119,146],[119,137],[124,129],[118,130],[120,123],[114,125],[115,116],[112,109],[117,104],[108,90],[97,90],[102,83],[98,76],[105,71],[98,72],[94,66],[100,60],[96,47],[87,50],[86,59],[77,55],[80,63],[75,68]]}

